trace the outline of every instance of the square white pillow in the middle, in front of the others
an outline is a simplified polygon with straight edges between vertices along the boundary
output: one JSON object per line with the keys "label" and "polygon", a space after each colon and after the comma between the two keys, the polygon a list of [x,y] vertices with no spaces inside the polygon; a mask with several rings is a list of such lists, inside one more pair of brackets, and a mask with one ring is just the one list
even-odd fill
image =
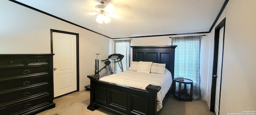
{"label": "square white pillow in the middle, in front of the others", "polygon": [[150,73],[152,63],[151,61],[140,61],[137,72]]}

